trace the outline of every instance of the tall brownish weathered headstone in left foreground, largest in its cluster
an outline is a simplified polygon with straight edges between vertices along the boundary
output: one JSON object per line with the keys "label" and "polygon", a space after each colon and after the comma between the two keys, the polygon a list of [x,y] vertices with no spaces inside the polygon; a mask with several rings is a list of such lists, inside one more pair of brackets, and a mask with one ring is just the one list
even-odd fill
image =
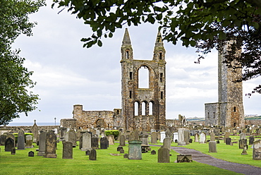
{"label": "tall brownish weathered headstone in left foreground, largest in its cluster", "polygon": [[44,157],[56,158],[56,135],[54,131],[47,132]]}

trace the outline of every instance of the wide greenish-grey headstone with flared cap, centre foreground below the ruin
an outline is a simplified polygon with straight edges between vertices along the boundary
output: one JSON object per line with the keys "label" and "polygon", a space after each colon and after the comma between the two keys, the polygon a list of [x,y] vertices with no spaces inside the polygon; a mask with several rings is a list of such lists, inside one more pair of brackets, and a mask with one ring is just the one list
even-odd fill
{"label": "wide greenish-grey headstone with flared cap, centre foreground below the ruin", "polygon": [[128,141],[128,159],[142,159],[140,140]]}

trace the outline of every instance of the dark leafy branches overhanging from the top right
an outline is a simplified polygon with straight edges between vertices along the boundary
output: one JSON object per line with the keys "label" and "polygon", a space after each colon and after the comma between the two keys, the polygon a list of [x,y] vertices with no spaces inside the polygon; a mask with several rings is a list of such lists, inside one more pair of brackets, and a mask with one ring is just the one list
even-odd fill
{"label": "dark leafy branches overhanging from the top right", "polygon": [[[186,47],[198,48],[197,63],[213,48],[220,50],[226,41],[236,40],[225,61],[233,71],[243,68],[242,78],[236,81],[261,74],[261,0],[54,0],[55,4],[68,8],[92,28],[92,36],[82,39],[83,47],[101,47],[102,37],[113,37],[123,25],[157,22],[167,42],[181,40]],[[242,54],[235,56],[241,47]],[[232,65],[234,59],[241,64]],[[261,85],[254,92],[261,93]]]}

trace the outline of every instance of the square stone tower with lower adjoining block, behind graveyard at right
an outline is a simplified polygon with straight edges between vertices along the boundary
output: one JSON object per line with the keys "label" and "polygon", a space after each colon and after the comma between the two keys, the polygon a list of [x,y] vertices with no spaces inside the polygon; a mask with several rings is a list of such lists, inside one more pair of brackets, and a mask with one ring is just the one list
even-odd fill
{"label": "square stone tower with lower adjoining block, behind graveyard at right", "polygon": [[[219,52],[218,56],[218,89],[219,102],[205,104],[205,123],[206,125],[220,125],[227,127],[244,126],[243,109],[243,87],[241,83],[234,83],[242,76],[242,68],[233,71],[232,68],[223,63],[225,52],[228,45]],[[241,50],[238,51],[238,54]],[[232,65],[235,62],[232,63]]]}

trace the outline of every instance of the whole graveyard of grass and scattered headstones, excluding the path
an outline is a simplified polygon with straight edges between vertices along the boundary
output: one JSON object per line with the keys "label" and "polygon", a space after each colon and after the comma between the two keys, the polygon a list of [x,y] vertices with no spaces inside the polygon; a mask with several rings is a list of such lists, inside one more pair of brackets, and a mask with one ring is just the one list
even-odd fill
{"label": "whole graveyard of grass and scattered headstones, excluding the path", "polygon": [[[184,129],[178,132],[180,131],[184,131]],[[40,143],[42,133],[46,140],[44,150]],[[53,131],[42,133],[38,144],[32,142],[33,139],[30,135],[27,135],[26,138],[31,139],[31,142],[20,141],[20,137],[23,138],[23,131],[18,132],[14,149],[11,148],[9,151],[6,145],[1,144],[1,174],[236,174],[233,171],[197,162],[193,160],[193,155],[191,162],[177,163],[179,154],[174,151],[174,147],[192,148],[228,162],[249,164],[261,168],[260,160],[253,159],[253,148],[249,144],[250,135],[245,133],[239,135],[226,132],[219,136],[211,133],[201,133],[200,135],[196,133],[186,136],[185,132],[184,135],[180,134],[176,137],[177,133],[166,131],[161,132],[159,138],[159,134],[155,134],[155,132],[139,133],[135,131],[130,135],[121,133],[122,135],[118,139],[114,139],[114,135],[105,136],[102,133],[91,136],[88,132],[83,131],[81,137],[79,137],[80,135],[76,137],[76,133],[72,130],[66,132],[68,134],[65,133],[64,138],[56,138],[59,135],[54,134]],[[70,135],[73,135],[72,140]],[[89,138],[90,145],[84,135]],[[226,139],[230,140],[229,144],[224,140],[225,135],[229,137]],[[180,140],[182,136],[183,141]],[[239,148],[242,137],[247,140],[247,150]],[[255,138],[259,137],[259,135],[255,135]],[[210,152],[209,143],[213,139],[214,143],[217,143],[216,152]],[[22,146],[20,143],[23,143]],[[6,144],[8,144],[7,141]],[[138,144],[138,147],[135,144]],[[23,147],[23,145],[25,146]],[[134,152],[131,150],[133,145]],[[142,150],[142,147],[148,149]],[[247,154],[241,154],[243,150]],[[40,153],[41,151],[43,153]],[[95,155],[92,155],[92,151],[95,152]]]}

